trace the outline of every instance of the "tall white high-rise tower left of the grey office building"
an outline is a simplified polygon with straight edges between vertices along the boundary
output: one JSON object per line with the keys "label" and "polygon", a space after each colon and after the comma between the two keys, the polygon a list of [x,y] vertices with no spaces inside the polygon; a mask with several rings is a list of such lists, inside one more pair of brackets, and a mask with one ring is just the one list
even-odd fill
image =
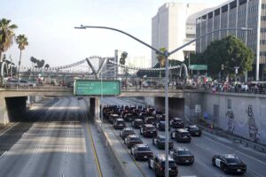
{"label": "tall white high-rise tower left of the grey office building", "polygon": [[[175,50],[195,38],[196,17],[192,14],[206,9],[206,4],[163,4],[152,19],[152,45],[156,49]],[[192,15],[192,16],[191,16]],[[191,16],[191,18],[189,18]],[[194,18],[193,18],[194,17]],[[190,52],[195,52],[195,44],[171,55],[170,59],[184,60]],[[158,63],[156,53],[152,51],[152,66]]]}

